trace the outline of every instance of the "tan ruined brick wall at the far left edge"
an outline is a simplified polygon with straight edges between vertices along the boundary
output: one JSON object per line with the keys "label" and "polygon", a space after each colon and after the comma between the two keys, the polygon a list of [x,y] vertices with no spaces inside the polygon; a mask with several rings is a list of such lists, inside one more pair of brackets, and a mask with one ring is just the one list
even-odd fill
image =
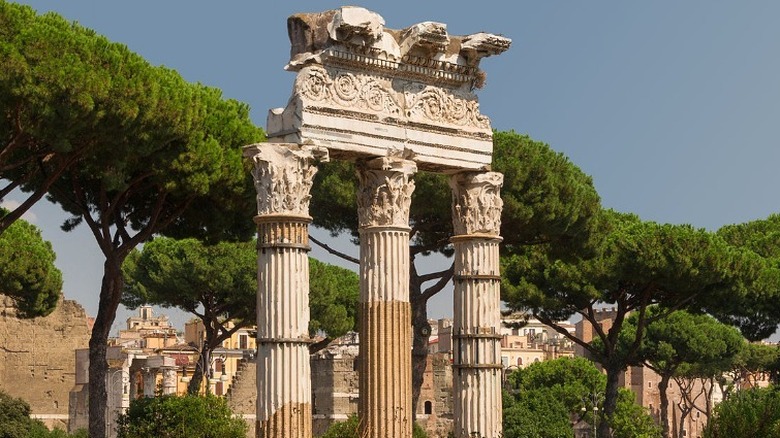
{"label": "tan ruined brick wall at the far left edge", "polygon": [[75,384],[75,349],[90,330],[84,308],[60,299],[51,315],[16,318],[13,301],[0,295],[0,389],[26,400],[49,427],[67,428],[69,391]]}

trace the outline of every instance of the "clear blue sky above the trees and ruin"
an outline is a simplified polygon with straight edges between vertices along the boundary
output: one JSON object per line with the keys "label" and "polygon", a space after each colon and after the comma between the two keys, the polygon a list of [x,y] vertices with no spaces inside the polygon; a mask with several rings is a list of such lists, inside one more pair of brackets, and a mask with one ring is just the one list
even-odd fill
{"label": "clear blue sky above the trees and ruin", "polygon": [[[126,44],[153,64],[247,102],[265,125],[294,75],[286,18],[333,1],[23,1]],[[366,1],[388,27],[512,38],[482,65],[482,112],[593,177],[605,207],[717,229],[779,211],[780,2]],[[35,221],[58,252],[65,295],[94,314],[102,257],[56,208]],[[431,315],[451,314],[451,295]],[[127,314],[119,316],[123,322]]]}

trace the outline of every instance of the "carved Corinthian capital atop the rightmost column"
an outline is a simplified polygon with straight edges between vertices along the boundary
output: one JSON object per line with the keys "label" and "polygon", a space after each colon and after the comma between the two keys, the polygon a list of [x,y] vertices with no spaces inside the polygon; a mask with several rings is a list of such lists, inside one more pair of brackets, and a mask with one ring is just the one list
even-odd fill
{"label": "carved Corinthian capital atop the rightmost column", "polygon": [[452,224],[455,235],[492,234],[501,230],[501,185],[498,172],[463,172],[452,176]]}

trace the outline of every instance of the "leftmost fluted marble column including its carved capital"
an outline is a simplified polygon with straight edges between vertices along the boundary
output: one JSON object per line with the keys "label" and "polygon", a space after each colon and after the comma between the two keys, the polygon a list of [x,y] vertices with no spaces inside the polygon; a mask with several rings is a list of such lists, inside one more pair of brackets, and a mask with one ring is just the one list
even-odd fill
{"label": "leftmost fluted marble column including its carved capital", "polygon": [[309,191],[327,151],[247,146],[257,190],[257,436],[310,438]]}

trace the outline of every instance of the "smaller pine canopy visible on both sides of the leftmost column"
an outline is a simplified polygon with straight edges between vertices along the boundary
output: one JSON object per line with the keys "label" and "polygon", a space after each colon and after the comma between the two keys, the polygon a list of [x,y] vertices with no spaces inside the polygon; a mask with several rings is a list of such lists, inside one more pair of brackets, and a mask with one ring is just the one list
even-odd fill
{"label": "smaller pine canopy visible on both sides of the leftmost column", "polygon": [[[178,307],[211,325],[253,324],[257,308],[255,242],[204,244],[157,237],[123,264],[123,303]],[[311,333],[335,338],[357,324],[357,274],[309,259]],[[216,327],[216,326],[215,326]],[[218,343],[218,342],[217,342]]]}

